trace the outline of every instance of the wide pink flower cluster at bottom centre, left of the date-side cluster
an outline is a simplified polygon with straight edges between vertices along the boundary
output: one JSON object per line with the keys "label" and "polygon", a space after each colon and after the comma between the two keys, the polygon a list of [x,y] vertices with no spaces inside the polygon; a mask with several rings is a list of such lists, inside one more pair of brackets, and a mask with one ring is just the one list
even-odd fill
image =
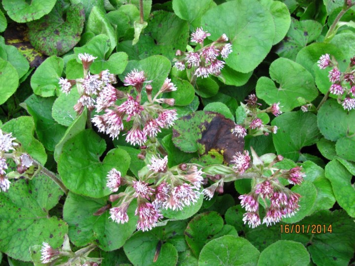
{"label": "wide pink flower cluster at bottom centre, left of the date-side cluster", "polygon": [[139,217],[137,229],[142,231],[151,230],[163,218],[160,212],[162,208],[182,210],[184,206],[197,202],[200,198],[203,172],[194,165],[180,167],[178,173],[172,172],[167,163],[167,157],[163,159],[152,157],[148,168],[150,179],[153,177],[156,179],[153,183],[128,176],[122,177],[114,168],[109,171],[107,187],[112,192],[118,191],[123,183],[129,187],[125,193],[112,198],[114,200],[121,198],[118,205],[110,209],[110,218],[114,222],[122,224],[128,222],[127,209],[134,198],[138,202],[135,211],[135,215]]}

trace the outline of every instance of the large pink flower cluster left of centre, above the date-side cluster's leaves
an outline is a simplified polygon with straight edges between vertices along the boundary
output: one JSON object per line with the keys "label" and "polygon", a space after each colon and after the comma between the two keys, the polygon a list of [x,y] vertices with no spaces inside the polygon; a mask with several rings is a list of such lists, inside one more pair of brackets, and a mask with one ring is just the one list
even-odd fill
{"label": "large pink flower cluster left of centre, above the date-side cluster's leaves", "polygon": [[[170,128],[177,119],[175,109],[165,109],[160,104],[174,105],[174,99],[158,99],[157,96],[175,91],[177,88],[167,78],[154,99],[151,97],[152,87],[145,87],[150,104],[141,104],[141,92],[146,77],[143,71],[132,70],[124,79],[125,86],[133,86],[137,95],[134,98],[128,93],[123,93],[111,85],[107,85],[97,98],[97,112],[105,111],[103,115],[95,115],[92,122],[100,132],[116,138],[124,129],[123,121],[133,120],[133,126],[126,135],[126,141],[132,145],[143,145],[147,137],[156,137],[162,128]],[[116,100],[126,99],[120,105],[115,105]]]}

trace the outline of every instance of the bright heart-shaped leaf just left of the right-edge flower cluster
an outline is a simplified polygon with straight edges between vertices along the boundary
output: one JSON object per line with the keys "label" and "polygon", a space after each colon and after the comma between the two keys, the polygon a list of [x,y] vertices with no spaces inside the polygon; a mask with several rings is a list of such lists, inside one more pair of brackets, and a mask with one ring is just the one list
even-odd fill
{"label": "bright heart-shaped leaf just left of the right-edge flower cluster", "polygon": [[[301,65],[279,58],[270,65],[270,78],[261,77],[256,84],[256,95],[268,104],[281,102],[280,109],[291,111],[301,106],[297,100],[302,97],[308,101],[316,99],[318,90],[312,75]],[[274,81],[280,84],[278,87]]]}

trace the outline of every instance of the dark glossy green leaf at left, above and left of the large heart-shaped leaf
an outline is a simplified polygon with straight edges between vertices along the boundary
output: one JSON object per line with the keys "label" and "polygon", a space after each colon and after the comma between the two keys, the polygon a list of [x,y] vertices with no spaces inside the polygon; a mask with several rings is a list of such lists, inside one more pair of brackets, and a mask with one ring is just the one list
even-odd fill
{"label": "dark glossy green leaf at left, above and left of the large heart-shaped leaf", "polygon": [[58,144],[66,131],[66,127],[59,125],[52,118],[54,100],[54,97],[42,98],[34,94],[25,100],[27,110],[35,121],[38,139],[49,151],[54,151],[55,145]]}

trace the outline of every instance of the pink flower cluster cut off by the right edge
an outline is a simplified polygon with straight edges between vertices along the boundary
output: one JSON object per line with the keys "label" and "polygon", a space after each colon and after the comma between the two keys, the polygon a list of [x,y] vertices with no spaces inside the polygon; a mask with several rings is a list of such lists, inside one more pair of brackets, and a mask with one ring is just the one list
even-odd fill
{"label": "pink flower cluster cut off by the right edge", "polygon": [[[337,62],[330,59],[329,54],[322,55],[318,61],[320,69],[331,67],[328,77],[332,83],[329,92],[337,95],[338,100],[342,100],[342,106],[345,110],[355,109],[355,76],[354,76],[354,58],[345,72],[339,70]],[[344,99],[344,100],[343,100]]]}

